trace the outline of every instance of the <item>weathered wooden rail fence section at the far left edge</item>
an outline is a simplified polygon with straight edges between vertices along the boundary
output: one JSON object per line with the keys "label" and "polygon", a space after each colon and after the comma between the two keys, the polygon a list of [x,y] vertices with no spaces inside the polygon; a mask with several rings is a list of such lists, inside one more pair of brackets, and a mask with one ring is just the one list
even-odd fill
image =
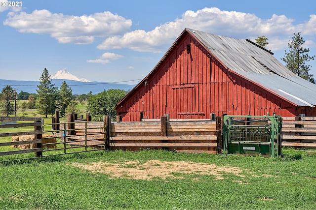
{"label": "weathered wooden rail fence section at the far left edge", "polygon": [[[25,123],[16,123],[16,121],[34,121],[34,122],[25,122]],[[17,127],[30,127],[34,126],[33,131],[25,131],[25,132],[9,132],[9,133],[0,133],[0,137],[14,137],[14,136],[26,136],[26,135],[34,135],[32,140],[27,141],[14,141],[14,142],[1,142],[0,147],[3,146],[20,146],[20,145],[33,145],[33,148],[26,150],[12,150],[12,151],[2,151],[0,152],[0,156],[2,155],[10,155],[10,154],[22,154],[35,152],[36,156],[42,156],[42,148],[41,148],[41,118],[24,118],[24,117],[0,117],[0,128],[17,128]],[[3,123],[3,121],[13,121],[15,123]]]}

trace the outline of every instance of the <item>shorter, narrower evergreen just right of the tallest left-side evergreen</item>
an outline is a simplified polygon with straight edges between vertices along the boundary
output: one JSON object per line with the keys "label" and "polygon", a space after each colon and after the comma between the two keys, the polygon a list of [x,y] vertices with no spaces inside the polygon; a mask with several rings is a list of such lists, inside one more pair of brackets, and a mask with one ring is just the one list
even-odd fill
{"label": "shorter, narrower evergreen just right of the tallest left-side evergreen", "polygon": [[58,90],[58,100],[56,102],[56,107],[59,110],[61,117],[65,116],[65,110],[69,106],[73,99],[73,90],[64,81]]}

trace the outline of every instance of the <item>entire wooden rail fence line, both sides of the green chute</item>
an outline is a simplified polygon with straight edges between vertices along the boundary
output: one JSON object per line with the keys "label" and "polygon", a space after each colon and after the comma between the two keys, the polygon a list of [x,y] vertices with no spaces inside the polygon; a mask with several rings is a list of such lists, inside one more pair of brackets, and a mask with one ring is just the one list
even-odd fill
{"label": "entire wooden rail fence line, both sides of the green chute", "polygon": [[[119,119],[119,118],[118,118]],[[91,150],[143,150],[164,149],[181,152],[222,152],[222,117],[211,119],[142,119],[136,122],[113,122],[109,116],[103,121],[76,122],[69,118],[68,122],[53,123],[59,142],[43,143],[42,134],[47,131],[41,129],[41,118],[0,117],[1,121],[11,120],[11,123],[0,124],[1,128],[34,127],[25,132],[0,132],[0,137],[14,137],[34,135],[34,140],[19,142],[0,142],[3,146],[33,144],[36,147],[26,150],[0,151],[1,155],[35,152],[42,156],[42,152],[54,150],[70,150],[74,148],[94,147]],[[26,121],[16,123],[12,121]],[[56,119],[54,119],[56,120]],[[28,122],[27,122],[28,121]],[[55,121],[56,122],[56,121]],[[59,121],[58,121],[59,122]],[[49,145],[65,145],[64,148],[43,149]],[[316,117],[282,118],[282,147],[295,149],[316,149]]]}

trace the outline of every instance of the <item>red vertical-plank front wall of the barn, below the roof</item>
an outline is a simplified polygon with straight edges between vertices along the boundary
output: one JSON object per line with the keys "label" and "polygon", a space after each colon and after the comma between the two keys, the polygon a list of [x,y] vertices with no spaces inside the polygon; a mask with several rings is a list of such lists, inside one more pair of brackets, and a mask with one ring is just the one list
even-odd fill
{"label": "red vertical-plank front wall of the barn, below the roof", "polygon": [[[187,54],[186,47],[191,45]],[[190,35],[178,43],[148,78],[117,108],[122,121],[209,119],[210,114],[296,116],[297,109],[227,69]]]}

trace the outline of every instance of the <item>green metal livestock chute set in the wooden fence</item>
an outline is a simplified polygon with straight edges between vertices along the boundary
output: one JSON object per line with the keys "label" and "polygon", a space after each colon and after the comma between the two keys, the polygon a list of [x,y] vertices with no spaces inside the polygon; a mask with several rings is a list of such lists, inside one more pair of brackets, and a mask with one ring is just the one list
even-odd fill
{"label": "green metal livestock chute set in the wooden fence", "polygon": [[281,155],[282,118],[273,116],[223,117],[224,154]]}

